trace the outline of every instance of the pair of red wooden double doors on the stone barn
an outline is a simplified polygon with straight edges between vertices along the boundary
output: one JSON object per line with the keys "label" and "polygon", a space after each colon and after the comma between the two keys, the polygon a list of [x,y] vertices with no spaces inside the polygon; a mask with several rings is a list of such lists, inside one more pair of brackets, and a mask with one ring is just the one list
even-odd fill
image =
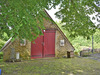
{"label": "pair of red wooden double doors on the stone barn", "polygon": [[55,56],[55,30],[45,30],[44,36],[31,43],[31,58]]}

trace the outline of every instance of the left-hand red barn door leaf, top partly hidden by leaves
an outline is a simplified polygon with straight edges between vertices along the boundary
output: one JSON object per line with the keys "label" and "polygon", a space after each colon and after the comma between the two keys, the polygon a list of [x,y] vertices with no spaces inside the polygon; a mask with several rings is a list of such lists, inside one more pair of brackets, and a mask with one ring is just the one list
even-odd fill
{"label": "left-hand red barn door leaf, top partly hidden by leaves", "polygon": [[42,58],[43,36],[38,37],[35,43],[31,42],[31,58]]}

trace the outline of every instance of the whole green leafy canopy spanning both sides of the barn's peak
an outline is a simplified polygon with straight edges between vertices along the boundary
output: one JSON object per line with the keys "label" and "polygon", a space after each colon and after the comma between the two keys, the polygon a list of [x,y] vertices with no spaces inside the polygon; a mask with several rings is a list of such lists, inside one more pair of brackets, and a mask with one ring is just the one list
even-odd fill
{"label": "whole green leafy canopy spanning both sides of the barn's peak", "polygon": [[56,16],[72,35],[88,36],[96,28],[87,15],[100,10],[94,0],[0,0],[0,35],[7,33],[8,37],[34,40],[45,29],[43,19],[48,17],[44,9],[56,5],[60,5]]}

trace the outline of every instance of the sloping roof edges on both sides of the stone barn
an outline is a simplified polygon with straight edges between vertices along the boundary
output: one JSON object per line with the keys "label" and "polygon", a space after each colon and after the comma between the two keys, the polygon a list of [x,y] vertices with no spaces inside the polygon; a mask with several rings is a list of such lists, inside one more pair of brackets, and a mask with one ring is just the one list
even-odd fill
{"label": "sloping roof edges on both sides of the stone barn", "polygon": [[[70,43],[70,41],[67,39],[67,37],[65,36],[65,34],[62,32],[62,30],[58,27],[58,25],[55,23],[55,21],[51,18],[51,16],[48,14],[48,12],[45,10],[45,13],[47,14],[47,16],[53,21],[53,23],[55,24],[55,26],[57,27],[57,29],[60,31],[61,35],[69,42],[69,44],[73,47],[73,45]],[[11,42],[10,38],[5,45],[1,48],[1,51],[5,50],[12,42]],[[75,48],[73,47],[73,49],[75,50]]]}

